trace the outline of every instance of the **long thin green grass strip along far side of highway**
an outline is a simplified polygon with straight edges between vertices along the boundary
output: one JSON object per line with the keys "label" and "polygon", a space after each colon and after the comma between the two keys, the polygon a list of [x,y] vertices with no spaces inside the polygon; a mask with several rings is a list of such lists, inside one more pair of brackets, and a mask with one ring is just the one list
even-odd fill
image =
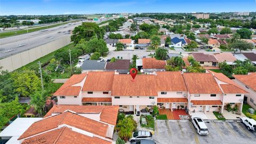
{"label": "long thin green grass strip along far side of highway", "polygon": [[[61,26],[61,25],[65,25],[65,24],[67,24],[69,22],[57,23],[57,24],[51,25],[51,26],[31,28],[31,29],[28,29],[28,33],[31,33],[31,32],[34,32],[34,31],[38,31],[38,30],[58,27],[58,26]],[[15,35],[21,35],[21,34],[26,34],[26,33],[27,33],[27,29],[7,31],[7,32],[0,33],[0,38],[9,37],[9,36],[15,36]]]}

